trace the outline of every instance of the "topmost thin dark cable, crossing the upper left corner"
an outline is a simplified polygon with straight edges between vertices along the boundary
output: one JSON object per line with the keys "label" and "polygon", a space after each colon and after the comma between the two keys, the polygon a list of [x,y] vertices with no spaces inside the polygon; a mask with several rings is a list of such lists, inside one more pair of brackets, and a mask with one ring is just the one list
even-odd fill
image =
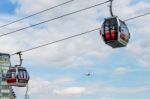
{"label": "topmost thin dark cable, crossing the upper left corner", "polygon": [[27,19],[27,18],[33,17],[33,16],[38,15],[38,14],[41,14],[41,13],[43,13],[43,12],[52,10],[52,9],[54,9],[54,8],[60,7],[60,6],[62,6],[62,5],[65,5],[65,4],[70,3],[70,2],[72,2],[72,1],[74,1],[74,0],[70,0],[70,1],[67,1],[67,2],[64,2],[64,3],[61,3],[61,4],[58,4],[58,5],[56,5],[56,6],[50,7],[50,8],[48,8],[48,9],[45,9],[45,10],[42,10],[42,11],[39,11],[39,12],[37,12],[37,13],[31,14],[31,15],[29,15],[29,16],[26,16],[26,17],[24,17],[24,18],[21,18],[21,19],[12,21],[12,22],[7,23],[7,24],[5,24],[5,25],[1,25],[0,28],[5,27],[5,26],[8,26],[8,25],[11,25],[11,24],[13,24],[13,23],[17,23],[17,22],[19,22],[19,21],[25,20],[25,19]]}

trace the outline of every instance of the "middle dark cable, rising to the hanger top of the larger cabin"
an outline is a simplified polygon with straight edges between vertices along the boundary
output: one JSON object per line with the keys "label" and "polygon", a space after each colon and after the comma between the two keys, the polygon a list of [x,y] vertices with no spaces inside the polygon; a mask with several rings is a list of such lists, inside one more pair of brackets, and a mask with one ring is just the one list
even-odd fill
{"label": "middle dark cable, rising to the hanger top of the larger cabin", "polygon": [[105,3],[108,3],[108,2],[109,2],[109,1],[105,1],[105,2],[96,4],[96,5],[93,5],[93,6],[84,8],[84,9],[81,9],[81,10],[77,10],[77,11],[74,11],[74,12],[71,12],[71,13],[68,13],[68,14],[64,14],[64,15],[61,15],[61,16],[58,16],[58,17],[55,17],[55,18],[52,18],[52,19],[49,19],[49,20],[46,20],[46,21],[39,22],[39,23],[37,23],[37,24],[33,24],[33,25],[30,25],[30,26],[27,26],[27,27],[24,27],[24,28],[21,28],[21,29],[12,31],[12,32],[4,33],[4,34],[0,35],[0,37],[6,36],[6,35],[10,35],[10,34],[13,34],[13,33],[16,33],[16,32],[19,32],[19,31],[22,31],[22,30],[31,28],[31,27],[35,27],[35,26],[44,24],[44,23],[48,23],[48,22],[50,22],[50,21],[54,21],[54,20],[57,20],[57,19],[60,19],[60,18],[66,17],[66,16],[70,16],[70,15],[72,15],[72,14],[79,13],[79,12],[82,12],[82,11],[85,11],[85,10],[88,10],[88,9],[91,9],[91,8],[94,8],[94,7],[103,5],[103,4],[105,4]]}

